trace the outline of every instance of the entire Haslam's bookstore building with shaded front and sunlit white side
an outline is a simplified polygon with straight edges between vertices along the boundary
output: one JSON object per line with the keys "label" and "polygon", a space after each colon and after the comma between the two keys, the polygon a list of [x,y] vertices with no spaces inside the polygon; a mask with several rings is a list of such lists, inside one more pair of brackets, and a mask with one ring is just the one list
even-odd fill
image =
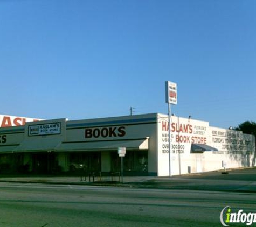
{"label": "entire Haslam's bookstore building with shaded front and sunlit white side", "polygon": [[[209,122],[160,113],[85,120],[0,115],[0,174],[168,176],[255,166],[255,138]],[[170,159],[169,159],[170,158]]]}

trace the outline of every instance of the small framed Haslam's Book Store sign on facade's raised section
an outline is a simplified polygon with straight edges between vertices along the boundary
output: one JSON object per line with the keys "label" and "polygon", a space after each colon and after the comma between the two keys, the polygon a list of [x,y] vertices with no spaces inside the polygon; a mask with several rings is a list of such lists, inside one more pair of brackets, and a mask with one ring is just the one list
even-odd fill
{"label": "small framed Haslam's Book Store sign on facade's raised section", "polygon": [[29,136],[46,136],[60,134],[60,122],[51,124],[29,125]]}

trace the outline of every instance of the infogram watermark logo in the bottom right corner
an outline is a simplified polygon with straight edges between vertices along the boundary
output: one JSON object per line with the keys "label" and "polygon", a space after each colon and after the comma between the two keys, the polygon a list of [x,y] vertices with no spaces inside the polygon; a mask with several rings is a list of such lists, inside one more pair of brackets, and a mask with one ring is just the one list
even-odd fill
{"label": "infogram watermark logo in the bottom right corner", "polygon": [[256,213],[246,213],[243,210],[232,212],[232,208],[229,206],[223,208],[219,219],[225,227],[230,226],[232,223],[244,223],[247,226],[255,223],[256,225]]}

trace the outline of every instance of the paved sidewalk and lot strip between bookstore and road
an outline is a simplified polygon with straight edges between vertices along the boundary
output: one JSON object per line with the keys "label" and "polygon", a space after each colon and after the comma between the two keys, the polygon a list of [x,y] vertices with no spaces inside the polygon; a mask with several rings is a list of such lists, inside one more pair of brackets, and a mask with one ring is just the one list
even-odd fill
{"label": "paved sidewalk and lot strip between bookstore and road", "polygon": [[[90,181],[89,181],[90,180]],[[112,181],[114,180],[114,182]],[[1,176],[0,182],[54,183],[65,185],[118,186],[134,188],[158,188],[178,190],[213,190],[256,193],[256,168],[227,169],[207,173],[185,174],[170,177],[126,177],[123,183],[118,178],[66,176]]]}

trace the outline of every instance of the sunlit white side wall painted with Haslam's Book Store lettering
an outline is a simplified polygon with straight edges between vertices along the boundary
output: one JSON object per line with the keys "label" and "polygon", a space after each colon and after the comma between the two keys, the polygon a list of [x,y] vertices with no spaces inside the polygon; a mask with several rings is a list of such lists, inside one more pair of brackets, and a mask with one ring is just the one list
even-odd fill
{"label": "sunlit white side wall painted with Haslam's Book Store lettering", "polygon": [[[158,114],[158,176],[169,175],[168,116]],[[218,152],[191,153],[191,144],[206,144]],[[255,166],[255,138],[233,130],[210,127],[209,122],[171,117],[172,175]]]}

